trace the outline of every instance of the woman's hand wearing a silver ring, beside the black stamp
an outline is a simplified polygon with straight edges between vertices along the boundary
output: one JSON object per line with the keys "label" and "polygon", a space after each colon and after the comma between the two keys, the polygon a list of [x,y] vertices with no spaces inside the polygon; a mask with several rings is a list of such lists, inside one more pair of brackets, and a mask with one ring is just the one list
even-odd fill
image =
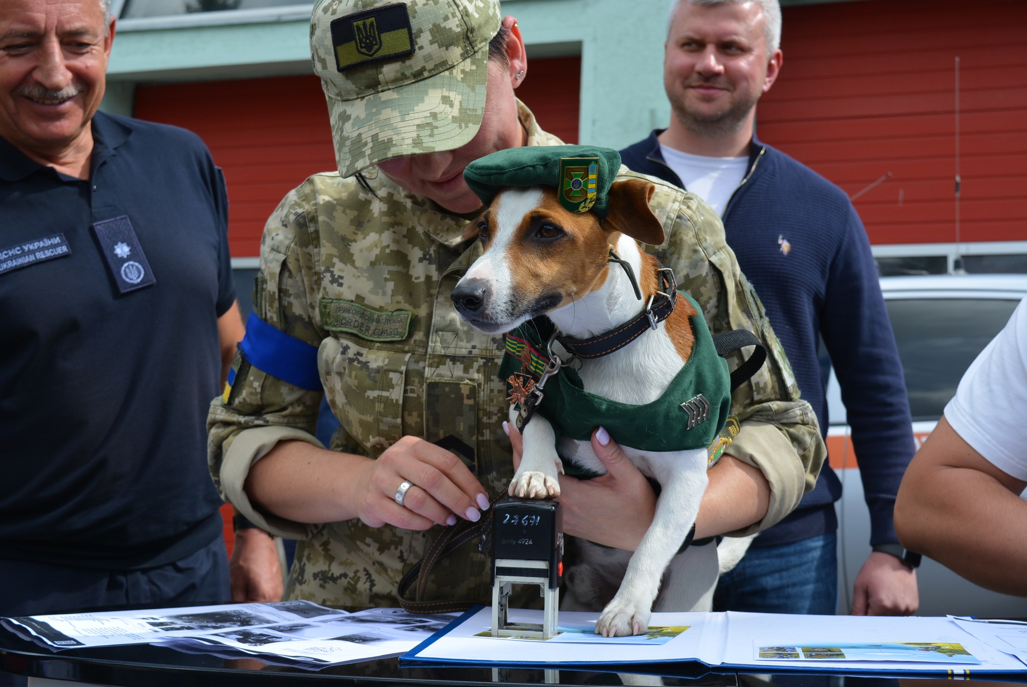
{"label": "woman's hand wearing a silver ring, beside the black stamp", "polygon": [[[400,484],[410,481],[401,506]],[[433,443],[405,436],[356,476],[357,517],[373,528],[404,530],[456,525],[457,514],[471,521],[489,507],[485,489],[460,459]]]}

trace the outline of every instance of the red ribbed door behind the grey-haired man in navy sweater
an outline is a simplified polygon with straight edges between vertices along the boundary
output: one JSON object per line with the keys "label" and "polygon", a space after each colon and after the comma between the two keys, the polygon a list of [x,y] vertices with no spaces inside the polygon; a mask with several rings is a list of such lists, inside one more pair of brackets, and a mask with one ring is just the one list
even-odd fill
{"label": "red ribbed door behind the grey-haired man in navy sweater", "polygon": [[786,7],[785,65],[758,135],[857,193],[873,244],[955,241],[955,58],[962,241],[1027,240],[1027,2]]}

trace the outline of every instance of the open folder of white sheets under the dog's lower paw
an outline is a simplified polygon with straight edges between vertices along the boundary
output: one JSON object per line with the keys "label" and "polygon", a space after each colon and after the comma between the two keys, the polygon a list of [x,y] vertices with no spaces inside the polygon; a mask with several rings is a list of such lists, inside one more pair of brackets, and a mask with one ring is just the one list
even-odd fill
{"label": "open folder of white sheets under the dog's lower paw", "polygon": [[[510,611],[511,620],[540,622],[540,611]],[[560,614],[561,624],[595,623],[598,613]],[[873,673],[1027,673],[1014,656],[989,647],[943,617],[854,617],[768,613],[653,613],[652,625],[688,625],[661,645],[622,644],[616,639],[571,644],[560,637],[547,641],[510,641],[480,637],[491,624],[491,610],[468,614],[443,636],[405,654],[404,660],[501,664],[621,664],[697,660],[707,665],[767,671],[859,671]],[[761,659],[758,647],[795,645],[874,645],[887,643],[958,644],[969,652],[906,660],[901,652],[879,652],[881,660]],[[975,662],[979,661],[979,663]]]}

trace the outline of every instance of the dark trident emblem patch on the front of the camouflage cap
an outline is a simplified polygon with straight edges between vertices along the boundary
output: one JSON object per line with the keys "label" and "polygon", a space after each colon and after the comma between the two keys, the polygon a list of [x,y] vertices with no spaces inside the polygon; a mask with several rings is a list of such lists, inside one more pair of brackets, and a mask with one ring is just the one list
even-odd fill
{"label": "dark trident emblem patch on the front of the camouflage cap", "polygon": [[340,72],[413,55],[414,31],[407,5],[396,2],[332,21],[332,47]]}

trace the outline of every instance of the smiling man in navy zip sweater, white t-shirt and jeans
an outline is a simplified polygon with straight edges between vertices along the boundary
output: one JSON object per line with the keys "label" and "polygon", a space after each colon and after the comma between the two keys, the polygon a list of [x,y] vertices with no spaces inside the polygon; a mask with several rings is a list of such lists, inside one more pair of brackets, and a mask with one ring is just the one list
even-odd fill
{"label": "smiling man in navy zip sweater, white t-shirt and jeans", "polygon": [[[873,552],[855,579],[852,613],[909,614],[918,605],[916,574],[900,558],[892,523],[914,453],[902,365],[870,244],[845,193],[753,134],[756,103],[782,66],[779,38],[777,0],[678,0],[663,59],[670,126],[620,154],[631,169],[687,188],[721,215],[826,434],[823,336],[870,508]],[[824,470],[798,509],[721,578],[715,609],[834,613],[840,497],[838,477]]]}

